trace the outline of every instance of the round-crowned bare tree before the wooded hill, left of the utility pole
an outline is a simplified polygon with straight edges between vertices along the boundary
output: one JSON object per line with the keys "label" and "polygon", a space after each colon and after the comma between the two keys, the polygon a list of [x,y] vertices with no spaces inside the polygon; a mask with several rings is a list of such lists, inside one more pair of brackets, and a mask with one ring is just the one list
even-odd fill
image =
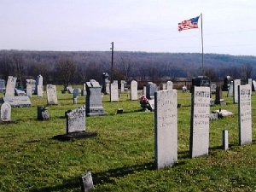
{"label": "round-crowned bare tree before the wooded hill, left of the utility pole", "polygon": [[73,82],[76,73],[76,63],[69,58],[61,58],[55,67],[56,77],[63,84],[64,90],[67,90],[68,84]]}

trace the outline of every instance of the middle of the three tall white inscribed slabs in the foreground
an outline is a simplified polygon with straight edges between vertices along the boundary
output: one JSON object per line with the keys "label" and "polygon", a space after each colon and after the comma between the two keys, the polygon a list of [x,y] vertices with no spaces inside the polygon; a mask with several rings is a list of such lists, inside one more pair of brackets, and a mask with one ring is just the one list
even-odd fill
{"label": "middle of the three tall white inscribed slabs in the foreground", "polygon": [[195,86],[191,96],[190,157],[208,154],[210,87]]}

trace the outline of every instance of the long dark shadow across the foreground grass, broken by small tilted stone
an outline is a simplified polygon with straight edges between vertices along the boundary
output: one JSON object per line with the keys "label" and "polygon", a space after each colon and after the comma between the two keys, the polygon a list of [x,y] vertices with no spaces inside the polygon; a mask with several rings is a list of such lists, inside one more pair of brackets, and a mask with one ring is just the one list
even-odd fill
{"label": "long dark shadow across the foreground grass, broken by small tilted stone", "polygon": [[[106,172],[92,172],[92,179],[95,185],[102,183],[114,183],[116,181],[114,178],[125,177],[126,175],[135,174],[143,170],[154,170],[154,164],[145,163],[142,165],[124,166],[116,169],[110,169]],[[65,180],[62,184],[58,184],[52,187],[44,187],[40,189],[31,189],[29,190],[29,192],[50,192],[63,189],[77,189],[80,188],[80,177],[82,177],[82,175],[77,177],[71,177]]]}

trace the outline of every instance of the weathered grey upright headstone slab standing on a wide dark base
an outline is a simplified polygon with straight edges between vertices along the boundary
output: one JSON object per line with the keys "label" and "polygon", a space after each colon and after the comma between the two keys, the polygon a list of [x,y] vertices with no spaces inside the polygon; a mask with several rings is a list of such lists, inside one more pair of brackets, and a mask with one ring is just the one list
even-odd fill
{"label": "weathered grey upright headstone slab standing on a wide dark base", "polygon": [[85,131],[85,106],[66,113],[67,134]]}

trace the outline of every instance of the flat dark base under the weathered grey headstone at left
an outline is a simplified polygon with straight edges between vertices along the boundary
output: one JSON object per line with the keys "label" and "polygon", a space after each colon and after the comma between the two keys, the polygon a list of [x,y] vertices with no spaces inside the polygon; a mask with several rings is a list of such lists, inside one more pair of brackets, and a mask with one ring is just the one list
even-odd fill
{"label": "flat dark base under the weathered grey headstone at left", "polygon": [[90,138],[90,137],[96,137],[96,132],[73,132],[65,135],[57,135],[53,137],[54,139],[61,140],[61,141],[68,141],[72,139],[84,139],[84,138]]}

